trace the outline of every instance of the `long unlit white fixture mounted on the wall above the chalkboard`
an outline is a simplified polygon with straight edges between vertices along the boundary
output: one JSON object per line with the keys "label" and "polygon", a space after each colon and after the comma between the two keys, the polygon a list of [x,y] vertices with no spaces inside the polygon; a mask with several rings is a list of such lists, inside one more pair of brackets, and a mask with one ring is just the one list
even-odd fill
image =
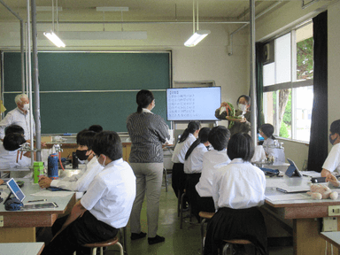
{"label": "long unlit white fixture mounted on the wall above the chalkboard", "polygon": [[145,40],[146,31],[67,31],[59,33],[65,40]]}

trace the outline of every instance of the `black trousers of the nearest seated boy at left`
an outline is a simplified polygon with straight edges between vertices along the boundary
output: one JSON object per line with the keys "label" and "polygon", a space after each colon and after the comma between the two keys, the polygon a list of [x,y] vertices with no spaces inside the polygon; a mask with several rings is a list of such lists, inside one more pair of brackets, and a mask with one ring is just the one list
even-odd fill
{"label": "black trousers of the nearest seated boy at left", "polygon": [[[53,235],[58,232],[68,216],[60,218],[53,224]],[[42,251],[42,255],[73,255],[74,251],[81,251],[81,244],[97,243],[117,236],[119,229],[112,228],[103,221],[97,220],[89,211],[74,220]],[[81,253],[80,253],[81,254]]]}

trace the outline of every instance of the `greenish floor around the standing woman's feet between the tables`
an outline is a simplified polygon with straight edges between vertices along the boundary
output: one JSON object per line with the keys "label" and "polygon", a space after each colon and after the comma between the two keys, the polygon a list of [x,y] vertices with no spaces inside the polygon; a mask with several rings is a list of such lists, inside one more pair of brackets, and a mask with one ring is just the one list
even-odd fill
{"label": "greenish floor around the standing woman's feet between the tables", "polygon": [[[128,224],[128,254],[158,254],[158,255],[198,255],[201,254],[200,243],[200,225],[183,223],[183,229],[180,229],[180,218],[177,217],[177,197],[174,196],[174,190],[171,185],[163,187],[160,198],[160,210],[158,220],[158,235],[165,236],[165,243],[149,245],[147,238],[131,241],[130,229]],[[146,205],[142,209],[143,232],[148,232],[146,224]],[[188,219],[189,220],[189,219]],[[197,222],[193,219],[194,222]],[[114,249],[110,247],[109,250]],[[107,252],[107,254],[113,252]],[[114,254],[118,254],[114,252]],[[269,247],[270,255],[290,255],[293,254],[292,246]]]}

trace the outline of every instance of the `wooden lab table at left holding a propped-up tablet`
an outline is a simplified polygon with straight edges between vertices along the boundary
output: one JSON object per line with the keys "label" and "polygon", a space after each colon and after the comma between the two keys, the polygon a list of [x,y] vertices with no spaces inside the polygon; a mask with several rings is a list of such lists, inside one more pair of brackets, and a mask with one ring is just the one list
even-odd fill
{"label": "wooden lab table at left holding a propped-up tablet", "polygon": [[54,221],[57,220],[58,214],[66,213],[66,210],[70,210],[75,204],[75,193],[67,197],[31,196],[30,194],[41,190],[39,185],[31,183],[30,179],[18,180],[25,182],[21,188],[26,195],[24,204],[25,201],[46,198],[46,202],[55,202],[58,207],[55,209],[11,212],[4,210],[4,202],[2,202],[0,204],[0,217],[4,217],[4,227],[0,227],[0,243],[35,242],[36,227],[51,227]]}

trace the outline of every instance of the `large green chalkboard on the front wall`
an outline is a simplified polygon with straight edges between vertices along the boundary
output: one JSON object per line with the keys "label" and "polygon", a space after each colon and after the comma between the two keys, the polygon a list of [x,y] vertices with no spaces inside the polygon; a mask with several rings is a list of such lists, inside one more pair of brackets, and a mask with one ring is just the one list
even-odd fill
{"label": "large green chalkboard on the front wall", "polygon": [[[12,68],[12,80],[9,79],[8,70],[10,69],[8,66],[10,62],[6,59],[8,54],[15,54],[17,67]],[[54,54],[67,54],[67,55],[54,55]],[[14,97],[21,93],[21,84],[20,84],[20,63],[19,61],[19,52],[13,51],[4,51],[4,85],[3,85],[3,98],[4,104],[7,108],[7,111],[11,111],[15,108]],[[108,54],[120,54],[120,56],[124,56],[124,59],[128,62],[127,65],[134,66],[133,72],[128,72],[129,70],[123,69],[124,67],[120,67],[120,65],[115,65],[116,68],[121,68],[120,73],[125,75],[128,81],[124,81],[124,84],[120,83],[120,86],[111,89],[107,84],[104,84],[98,89],[94,89],[91,86],[92,81],[85,81],[83,78],[83,82],[80,86],[80,83],[73,84],[72,81],[75,81],[71,77],[79,77],[76,74],[73,75],[71,73],[72,63],[74,62],[72,59],[69,61],[70,65],[66,65],[63,72],[66,72],[66,76],[68,77],[68,81],[70,84],[63,84],[63,86],[57,86],[57,81],[62,81],[65,77],[53,77],[50,81],[53,81],[52,85],[49,88],[46,88],[46,72],[50,72],[53,65],[57,65],[58,61],[44,61],[46,54],[52,54],[53,57],[58,56],[71,56],[74,54],[77,57],[90,57],[94,58],[99,56],[118,56],[118,55],[108,55]],[[118,58],[118,57],[117,57]],[[158,59],[159,58],[159,59]],[[49,59],[50,58],[46,58]],[[58,59],[57,59],[58,60]],[[77,59],[77,61],[81,61]],[[96,63],[101,62],[101,59],[95,59]],[[103,62],[106,59],[103,60]],[[135,62],[140,61],[142,64]],[[52,63],[52,64],[51,64]],[[81,63],[86,63],[84,60]],[[93,63],[93,62],[92,62]],[[83,128],[89,128],[90,125],[99,124],[102,125],[106,130],[114,130],[117,132],[127,132],[126,128],[126,118],[132,112],[136,111],[135,104],[135,95],[140,89],[149,89],[154,94],[157,104],[152,112],[159,114],[166,120],[166,89],[171,88],[173,84],[172,77],[172,51],[164,50],[164,51],[39,51],[38,52],[38,65],[39,65],[39,81],[40,81],[40,101],[41,101],[41,121],[42,121],[42,134],[65,134],[65,133],[77,133]],[[85,64],[84,64],[85,65]],[[163,69],[158,71],[156,70],[160,65]],[[50,66],[50,68],[49,68]],[[51,67],[52,66],[52,67]],[[104,66],[105,67],[105,66]],[[102,67],[102,68],[104,68]],[[160,68],[160,67],[159,67]],[[101,72],[100,68],[97,66],[96,72]],[[139,69],[143,69],[143,73],[138,73]],[[69,73],[67,73],[69,72]],[[96,72],[90,73],[89,77],[95,76],[94,79],[98,79],[98,75],[96,76]],[[117,71],[118,72],[118,71]],[[141,71],[142,72],[142,71]],[[149,72],[149,73],[148,73]],[[86,72],[83,72],[86,75]],[[107,74],[108,72],[106,72]],[[131,73],[135,74],[132,75]],[[145,74],[144,74],[145,73]],[[158,75],[161,73],[162,75]],[[110,73],[109,73],[110,74]],[[138,76],[139,75],[139,76]],[[144,75],[144,76],[143,76]],[[142,77],[143,76],[143,77]],[[159,77],[162,76],[162,77]],[[136,82],[135,77],[140,77],[138,82]],[[135,78],[135,80],[134,80]],[[45,80],[43,80],[45,79]],[[124,77],[120,76],[116,79],[123,82]],[[65,79],[64,79],[65,81]],[[67,80],[66,80],[67,81]],[[96,80],[97,81],[97,80]],[[140,81],[140,82],[139,82]],[[87,83],[86,83],[87,82]],[[82,86],[86,83],[85,86]],[[160,84],[161,83],[161,84]],[[160,84],[160,85],[159,85]],[[91,99],[92,98],[92,99]],[[94,99],[93,99],[94,98]],[[34,102],[35,103],[35,102]],[[97,105],[97,106],[96,106]],[[166,121],[170,126],[170,122]]]}

